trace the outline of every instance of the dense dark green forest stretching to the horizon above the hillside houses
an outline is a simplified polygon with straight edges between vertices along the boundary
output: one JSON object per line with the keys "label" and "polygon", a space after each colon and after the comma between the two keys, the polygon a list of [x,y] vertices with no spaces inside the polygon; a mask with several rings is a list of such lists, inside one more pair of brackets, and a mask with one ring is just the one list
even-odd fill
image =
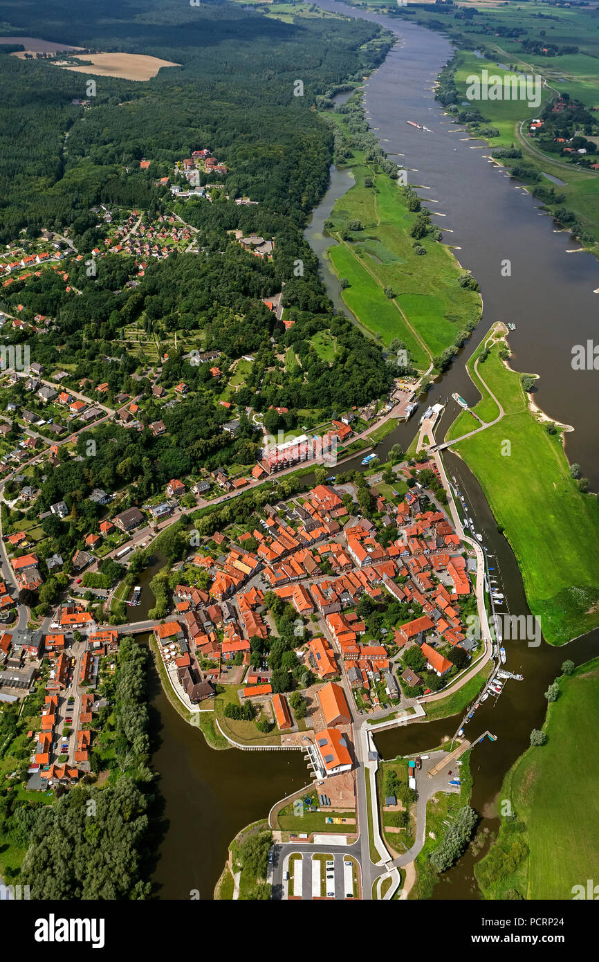
{"label": "dense dark green forest stretching to the horizon above the hillside houses", "polygon": [[[10,35],[160,57],[148,82],[96,78],[87,108],[86,75],[43,60],[0,53],[0,241],[29,224],[60,228],[100,201],[147,206],[157,176],[209,146],[228,165],[232,196],[301,219],[324,190],[330,134],[314,98],[385,56],[376,25],[321,18],[293,24],[228,3],[108,0],[102,11],[76,0],[37,8],[0,3]],[[10,24],[7,27],[6,24]],[[4,44],[3,50],[10,46]],[[294,96],[301,64],[303,96]],[[68,139],[65,139],[68,134]],[[141,158],[152,164],[139,170]]]}

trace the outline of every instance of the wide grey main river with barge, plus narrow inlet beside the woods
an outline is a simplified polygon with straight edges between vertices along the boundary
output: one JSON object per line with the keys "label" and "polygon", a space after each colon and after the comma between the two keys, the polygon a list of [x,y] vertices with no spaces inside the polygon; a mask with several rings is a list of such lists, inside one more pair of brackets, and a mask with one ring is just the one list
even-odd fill
{"label": "wide grey main river with barge, plus narrow inlet beside the woods", "polygon": [[[475,402],[478,393],[463,363],[493,321],[513,322],[516,330],[509,336],[513,367],[537,373],[538,406],[575,428],[566,434],[568,460],[582,466],[591,490],[597,491],[599,378],[596,371],[573,370],[571,365],[575,344],[593,338],[597,342],[599,293],[593,293],[599,288],[597,260],[580,252],[580,245],[538,210],[539,202],[487,159],[487,144],[466,139],[467,132],[459,133],[460,125],[444,116],[432,88],[453,52],[447,38],[336,0],[318,0],[318,6],[380,23],[397,37],[385,62],[364,84],[366,118],[391,158],[411,171],[409,181],[425,188],[418,190],[423,202],[438,201],[430,205],[434,222],[452,232],[446,234],[447,242],[459,248],[456,257],[481,285],[484,319],[451,372],[430,392],[430,402],[444,401],[454,391]],[[408,120],[424,123],[433,133],[414,129]],[[334,172],[331,187],[312,216],[306,236],[319,256],[331,243],[322,238],[322,220],[331,199],[337,199],[339,190],[342,195],[342,186],[351,186],[348,176],[346,171]],[[501,273],[506,260],[512,266],[510,277]],[[332,280],[326,264],[323,280],[340,306],[337,280]]]}

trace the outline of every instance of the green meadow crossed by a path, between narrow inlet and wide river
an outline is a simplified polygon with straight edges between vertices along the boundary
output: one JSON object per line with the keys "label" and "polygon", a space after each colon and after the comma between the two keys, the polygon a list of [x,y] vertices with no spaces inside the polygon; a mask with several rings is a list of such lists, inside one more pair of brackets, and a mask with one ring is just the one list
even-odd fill
{"label": "green meadow crossed by a path, between narrow inlet and wide river", "polygon": [[[326,116],[343,129],[342,114]],[[416,215],[408,211],[403,191],[367,165],[361,151],[354,157],[356,183],[331,215],[330,232],[339,241],[329,250],[331,263],[349,282],[343,299],[362,325],[384,344],[394,338],[405,342],[415,366],[425,370],[466,320],[480,316],[480,297],[458,284],[462,269],[448,247],[427,237],[420,241],[427,253],[414,252],[410,231]],[[373,187],[365,186],[366,177]],[[352,220],[360,220],[362,230],[341,240]]]}

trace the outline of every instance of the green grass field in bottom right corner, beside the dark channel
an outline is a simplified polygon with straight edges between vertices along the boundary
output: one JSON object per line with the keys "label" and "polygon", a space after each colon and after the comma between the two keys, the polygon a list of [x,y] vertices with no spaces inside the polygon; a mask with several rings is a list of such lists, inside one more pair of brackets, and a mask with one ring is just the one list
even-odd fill
{"label": "green grass field in bottom right corner, beside the dark channel", "polygon": [[[529,748],[506,776],[500,797],[511,800],[518,821],[502,823],[499,851],[491,849],[477,868],[487,899],[501,899],[510,888],[525,899],[572,899],[574,885],[586,888],[587,878],[599,877],[598,724],[594,659],[562,676],[544,724],[546,745]],[[512,852],[518,832],[529,848],[519,862]]]}

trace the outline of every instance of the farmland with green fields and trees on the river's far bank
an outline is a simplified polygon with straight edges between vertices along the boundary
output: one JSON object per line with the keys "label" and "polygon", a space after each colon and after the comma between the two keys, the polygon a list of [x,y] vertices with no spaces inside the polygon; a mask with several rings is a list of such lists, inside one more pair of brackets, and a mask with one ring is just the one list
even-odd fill
{"label": "farmland with green fields and trees on the river's far bank", "polygon": [[[523,7],[517,0],[479,10],[476,21],[456,18],[452,8],[445,10],[438,5],[429,9],[402,8],[394,13],[405,21],[413,18],[424,27],[442,32],[460,48],[452,63],[442,72],[440,84],[442,88],[443,75],[447,79],[447,71],[455,69],[456,97],[453,101],[439,97],[441,102],[447,104],[455,116],[460,116],[460,127],[466,128],[476,139],[484,140],[494,149],[512,151],[515,148],[519,156],[504,157],[495,163],[505,165],[510,171],[521,167],[518,179],[527,184],[553,215],[564,208],[571,212],[572,222],[579,225],[580,233],[584,235],[581,241],[585,248],[599,256],[599,174],[588,167],[568,163],[568,158],[558,153],[542,149],[542,131],[529,136],[530,122],[540,117],[543,106],[557,99],[561,92],[566,97],[576,98],[589,110],[595,106],[599,45],[590,12],[580,8],[564,12],[555,8],[551,19],[560,26],[550,29],[562,32],[569,44],[577,44],[562,50],[555,46],[558,33],[552,34],[550,39],[550,35],[545,36],[545,31],[540,29],[542,24],[537,8]],[[522,45],[523,39],[531,43],[534,38],[537,39],[537,49],[534,44],[532,47]],[[541,47],[552,49],[542,50]],[[481,77],[484,69],[489,77],[499,76],[502,81],[506,75],[514,74],[528,76],[531,82],[532,78],[538,77],[537,104],[529,106],[529,97],[468,103],[467,80],[472,76]],[[473,111],[480,111],[484,119],[468,120],[468,114]],[[527,168],[530,174],[527,174]],[[513,176],[516,176],[515,172]],[[557,185],[555,190],[553,185]],[[564,223],[567,230],[570,220]]]}

